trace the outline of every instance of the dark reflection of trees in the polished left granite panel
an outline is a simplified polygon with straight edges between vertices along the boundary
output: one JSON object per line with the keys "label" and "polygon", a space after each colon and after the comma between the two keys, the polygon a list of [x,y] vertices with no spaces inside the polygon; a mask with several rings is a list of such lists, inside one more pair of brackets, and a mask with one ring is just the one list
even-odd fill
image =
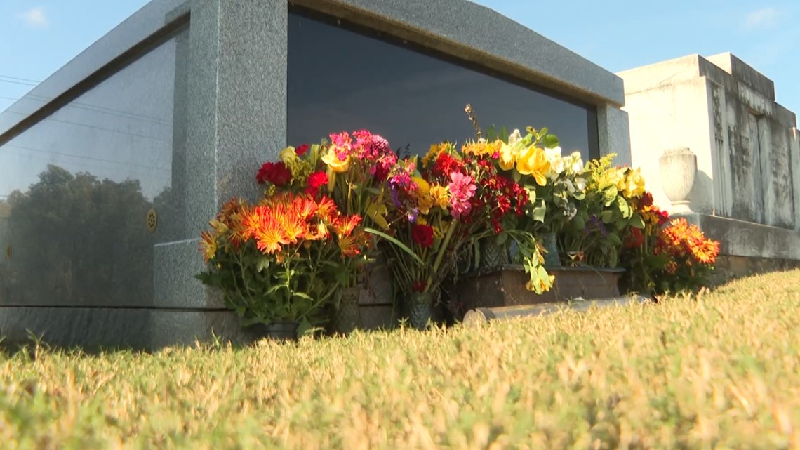
{"label": "dark reflection of trees in the polished left granite panel", "polygon": [[8,199],[14,279],[4,303],[146,305],[152,297],[152,207],[138,180],[99,180],[50,165]]}

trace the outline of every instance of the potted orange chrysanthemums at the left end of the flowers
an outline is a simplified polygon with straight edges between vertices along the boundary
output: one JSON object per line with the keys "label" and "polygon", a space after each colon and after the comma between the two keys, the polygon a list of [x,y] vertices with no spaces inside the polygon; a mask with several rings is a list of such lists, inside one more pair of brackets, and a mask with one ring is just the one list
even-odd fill
{"label": "potted orange chrysanthemums at the left end of the flowers", "polygon": [[220,288],[245,325],[286,321],[308,329],[338,290],[338,267],[369,244],[361,221],[324,196],[282,192],[255,205],[232,199],[202,232],[208,266],[198,279]]}

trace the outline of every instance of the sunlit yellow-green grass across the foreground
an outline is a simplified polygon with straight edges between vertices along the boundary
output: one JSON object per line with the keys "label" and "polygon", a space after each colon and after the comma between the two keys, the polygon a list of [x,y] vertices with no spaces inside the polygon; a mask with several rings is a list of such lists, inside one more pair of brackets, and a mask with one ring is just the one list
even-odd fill
{"label": "sunlit yellow-green grass across the foreground", "polygon": [[349,339],[0,356],[0,448],[800,448],[800,271]]}

